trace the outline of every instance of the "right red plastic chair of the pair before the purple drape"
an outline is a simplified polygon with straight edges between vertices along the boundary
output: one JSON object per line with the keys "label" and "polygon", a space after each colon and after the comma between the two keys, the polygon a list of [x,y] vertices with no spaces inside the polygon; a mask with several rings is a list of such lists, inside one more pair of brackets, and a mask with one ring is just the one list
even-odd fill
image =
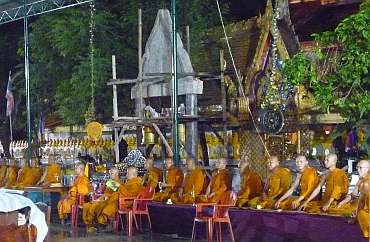
{"label": "right red plastic chair of the pair before the purple drape", "polygon": [[222,241],[221,223],[227,223],[229,228],[230,239],[235,242],[233,228],[229,216],[229,208],[235,207],[237,195],[235,192],[225,192],[219,203],[213,207],[212,221],[213,225],[217,224],[217,241]]}

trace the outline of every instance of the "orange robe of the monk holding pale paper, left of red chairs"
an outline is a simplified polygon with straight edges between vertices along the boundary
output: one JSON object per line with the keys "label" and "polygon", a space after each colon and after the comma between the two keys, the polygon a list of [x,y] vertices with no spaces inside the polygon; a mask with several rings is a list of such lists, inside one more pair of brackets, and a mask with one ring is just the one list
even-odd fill
{"label": "orange robe of the monk holding pale paper, left of red chairs", "polygon": [[[117,183],[122,184],[121,180],[115,180]],[[111,188],[106,187],[104,195],[96,201],[85,203],[82,209],[82,220],[86,225],[91,225],[94,223],[94,219],[98,218],[103,209],[106,206],[112,206],[118,202],[118,189],[113,191]],[[114,206],[112,206],[114,207]]]}

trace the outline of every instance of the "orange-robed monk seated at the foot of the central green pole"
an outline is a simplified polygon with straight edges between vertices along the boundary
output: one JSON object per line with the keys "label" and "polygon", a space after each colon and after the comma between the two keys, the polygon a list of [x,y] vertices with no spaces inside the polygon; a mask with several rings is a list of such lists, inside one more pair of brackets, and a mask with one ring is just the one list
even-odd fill
{"label": "orange-robed monk seated at the foot of the central green pole", "polygon": [[172,158],[166,158],[165,165],[167,168],[165,181],[159,183],[159,187],[165,189],[154,195],[153,200],[157,202],[167,202],[172,194],[178,192],[184,180],[184,174],[181,169],[174,166]]}

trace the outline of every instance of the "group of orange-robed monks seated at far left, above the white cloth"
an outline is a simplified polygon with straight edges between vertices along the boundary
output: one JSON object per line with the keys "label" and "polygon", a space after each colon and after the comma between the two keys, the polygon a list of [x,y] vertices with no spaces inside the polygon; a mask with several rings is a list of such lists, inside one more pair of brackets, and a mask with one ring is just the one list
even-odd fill
{"label": "group of orange-robed monks seated at far left, above the white cloth", "polygon": [[5,160],[1,160],[0,166],[0,187],[8,189],[23,189],[29,186],[50,186],[59,183],[62,178],[62,169],[55,163],[53,158],[49,158],[47,168],[40,167],[39,161],[32,160],[29,165],[25,159],[19,160],[16,165],[14,160],[10,160],[7,165]]}

